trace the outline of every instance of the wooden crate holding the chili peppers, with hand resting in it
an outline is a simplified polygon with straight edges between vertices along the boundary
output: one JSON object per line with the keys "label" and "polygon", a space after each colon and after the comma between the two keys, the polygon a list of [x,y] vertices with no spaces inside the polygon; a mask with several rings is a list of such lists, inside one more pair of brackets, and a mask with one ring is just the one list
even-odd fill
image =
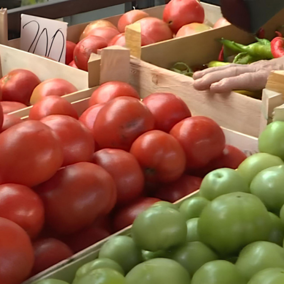
{"label": "wooden crate holding the chili peppers, with hand resting in it", "polygon": [[[268,38],[271,39],[275,30],[284,24],[283,19],[284,9],[265,25]],[[195,66],[216,60],[221,50],[218,39],[222,37],[244,44],[255,40],[252,35],[230,25],[143,46],[143,61],[133,59],[131,63],[131,83],[140,90],[142,97],[157,90],[178,93],[194,115],[206,115],[225,128],[258,137],[265,121],[262,101],[234,92],[212,94],[196,91],[192,78],[168,70],[176,62]],[[136,53],[132,51],[132,54]]]}

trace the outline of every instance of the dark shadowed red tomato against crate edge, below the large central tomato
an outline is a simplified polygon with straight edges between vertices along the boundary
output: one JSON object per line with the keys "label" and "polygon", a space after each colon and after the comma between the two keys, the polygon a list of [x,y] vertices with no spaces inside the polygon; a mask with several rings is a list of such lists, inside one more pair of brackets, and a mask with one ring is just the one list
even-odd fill
{"label": "dark shadowed red tomato against crate edge, below the large central tomato", "polygon": [[109,237],[110,235],[110,231],[95,222],[91,226],[88,226],[79,232],[66,236],[63,241],[75,253],[78,253],[94,245],[95,243]]}

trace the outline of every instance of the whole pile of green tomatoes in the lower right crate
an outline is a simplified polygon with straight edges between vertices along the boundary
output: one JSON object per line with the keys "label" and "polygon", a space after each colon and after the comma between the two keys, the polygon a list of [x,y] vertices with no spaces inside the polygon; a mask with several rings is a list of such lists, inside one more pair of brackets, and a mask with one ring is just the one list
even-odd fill
{"label": "whole pile of green tomatoes in the lower right crate", "polygon": [[179,207],[144,211],[73,284],[284,284],[284,122],[267,127],[259,150],[209,173]]}

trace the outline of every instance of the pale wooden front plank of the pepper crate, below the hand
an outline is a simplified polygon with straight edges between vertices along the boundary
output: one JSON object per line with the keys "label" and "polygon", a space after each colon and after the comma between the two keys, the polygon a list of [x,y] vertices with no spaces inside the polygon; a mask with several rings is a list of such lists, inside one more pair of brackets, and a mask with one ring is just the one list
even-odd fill
{"label": "pale wooden front plank of the pepper crate, below the hand", "polygon": [[131,59],[130,83],[142,98],[154,92],[171,92],[181,97],[193,115],[204,115],[224,128],[258,137],[262,102],[241,94],[212,94],[196,91],[193,79],[152,64]]}

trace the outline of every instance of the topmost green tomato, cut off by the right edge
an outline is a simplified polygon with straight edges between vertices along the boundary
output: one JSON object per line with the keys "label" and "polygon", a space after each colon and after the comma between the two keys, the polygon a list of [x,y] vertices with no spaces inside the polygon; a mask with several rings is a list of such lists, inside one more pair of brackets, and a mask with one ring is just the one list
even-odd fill
{"label": "topmost green tomato, cut off by the right edge", "polygon": [[284,159],[284,122],[276,121],[266,127],[259,137],[259,150]]}

